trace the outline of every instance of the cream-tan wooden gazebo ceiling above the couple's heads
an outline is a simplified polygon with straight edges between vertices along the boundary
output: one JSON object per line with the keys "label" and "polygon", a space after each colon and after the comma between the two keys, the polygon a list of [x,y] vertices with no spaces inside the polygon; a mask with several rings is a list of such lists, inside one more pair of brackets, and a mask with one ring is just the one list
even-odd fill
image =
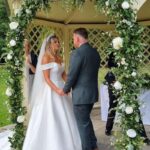
{"label": "cream-tan wooden gazebo ceiling above the couple's heads", "polygon": [[[12,1],[8,0],[11,12],[13,11]],[[19,0],[17,1],[17,7],[19,7]],[[36,18],[63,24],[105,24],[108,21],[105,15],[96,11],[94,3],[90,0],[87,0],[82,8],[69,12],[66,12],[60,1],[53,2],[49,11],[37,12]],[[139,10],[138,21],[150,21],[150,0],[147,0]]]}

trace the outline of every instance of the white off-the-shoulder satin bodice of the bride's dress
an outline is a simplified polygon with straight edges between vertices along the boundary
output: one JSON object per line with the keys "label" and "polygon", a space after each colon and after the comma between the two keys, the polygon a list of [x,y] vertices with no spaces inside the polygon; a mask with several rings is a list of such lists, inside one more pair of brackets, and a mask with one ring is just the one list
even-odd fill
{"label": "white off-the-shoulder satin bodice of the bride's dress", "polygon": [[51,69],[50,79],[52,81],[62,81],[62,73],[65,70],[64,63],[60,65],[56,62],[51,62],[48,64],[44,64],[41,67],[42,67],[42,70]]}

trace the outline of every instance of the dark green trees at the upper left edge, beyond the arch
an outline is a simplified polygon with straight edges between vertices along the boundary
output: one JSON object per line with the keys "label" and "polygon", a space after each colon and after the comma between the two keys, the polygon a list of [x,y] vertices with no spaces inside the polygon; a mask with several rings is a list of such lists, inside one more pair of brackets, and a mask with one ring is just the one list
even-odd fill
{"label": "dark green trees at the upper left edge, beyond the arch", "polygon": [[6,10],[5,0],[0,0],[0,63],[4,62],[2,54],[6,47],[6,33],[8,30],[8,14]]}

